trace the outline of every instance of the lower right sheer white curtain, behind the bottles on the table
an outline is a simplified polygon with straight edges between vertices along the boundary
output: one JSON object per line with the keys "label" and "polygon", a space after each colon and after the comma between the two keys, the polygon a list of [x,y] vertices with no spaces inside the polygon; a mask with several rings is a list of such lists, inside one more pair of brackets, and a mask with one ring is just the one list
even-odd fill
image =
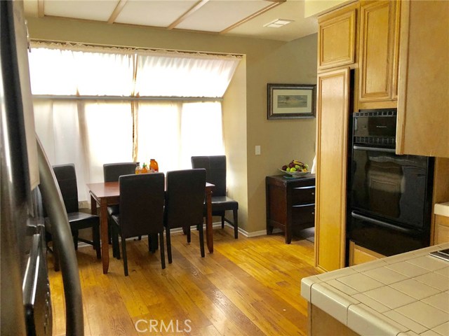
{"label": "lower right sheer white curtain, behind the bottles on the table", "polygon": [[220,102],[139,102],[138,161],[159,172],[192,168],[193,155],[225,153]]}

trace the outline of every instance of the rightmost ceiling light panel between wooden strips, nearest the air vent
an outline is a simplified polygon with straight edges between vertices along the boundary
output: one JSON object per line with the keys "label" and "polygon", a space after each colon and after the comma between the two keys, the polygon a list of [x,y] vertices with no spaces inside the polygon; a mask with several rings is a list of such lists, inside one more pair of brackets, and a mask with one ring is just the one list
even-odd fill
{"label": "rightmost ceiling light panel between wooden strips, nearest the air vent", "polygon": [[270,4],[264,0],[210,0],[175,28],[219,32]]}

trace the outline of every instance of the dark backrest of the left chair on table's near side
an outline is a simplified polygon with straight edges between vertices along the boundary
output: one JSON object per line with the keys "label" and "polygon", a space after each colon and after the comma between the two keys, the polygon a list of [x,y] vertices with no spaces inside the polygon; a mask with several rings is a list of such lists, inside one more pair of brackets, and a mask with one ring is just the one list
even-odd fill
{"label": "dark backrest of the left chair on table's near side", "polygon": [[163,173],[122,175],[119,186],[122,236],[129,238],[163,231]]}

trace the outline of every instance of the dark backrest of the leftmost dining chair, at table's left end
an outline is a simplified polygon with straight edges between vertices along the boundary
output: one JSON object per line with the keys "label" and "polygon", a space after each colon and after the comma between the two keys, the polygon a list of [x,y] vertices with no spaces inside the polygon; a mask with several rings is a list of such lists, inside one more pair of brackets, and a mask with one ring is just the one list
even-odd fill
{"label": "dark backrest of the leftmost dining chair, at table's left end", "polygon": [[75,165],[56,165],[53,166],[53,172],[58,181],[67,213],[78,212],[78,187],[76,186]]}

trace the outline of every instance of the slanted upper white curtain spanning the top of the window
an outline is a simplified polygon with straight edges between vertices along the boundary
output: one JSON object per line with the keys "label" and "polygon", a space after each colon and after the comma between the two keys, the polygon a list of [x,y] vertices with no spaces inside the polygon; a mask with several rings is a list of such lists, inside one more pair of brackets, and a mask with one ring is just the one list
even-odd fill
{"label": "slanted upper white curtain spanning the top of the window", "polygon": [[32,43],[33,94],[222,97],[241,57]]}

